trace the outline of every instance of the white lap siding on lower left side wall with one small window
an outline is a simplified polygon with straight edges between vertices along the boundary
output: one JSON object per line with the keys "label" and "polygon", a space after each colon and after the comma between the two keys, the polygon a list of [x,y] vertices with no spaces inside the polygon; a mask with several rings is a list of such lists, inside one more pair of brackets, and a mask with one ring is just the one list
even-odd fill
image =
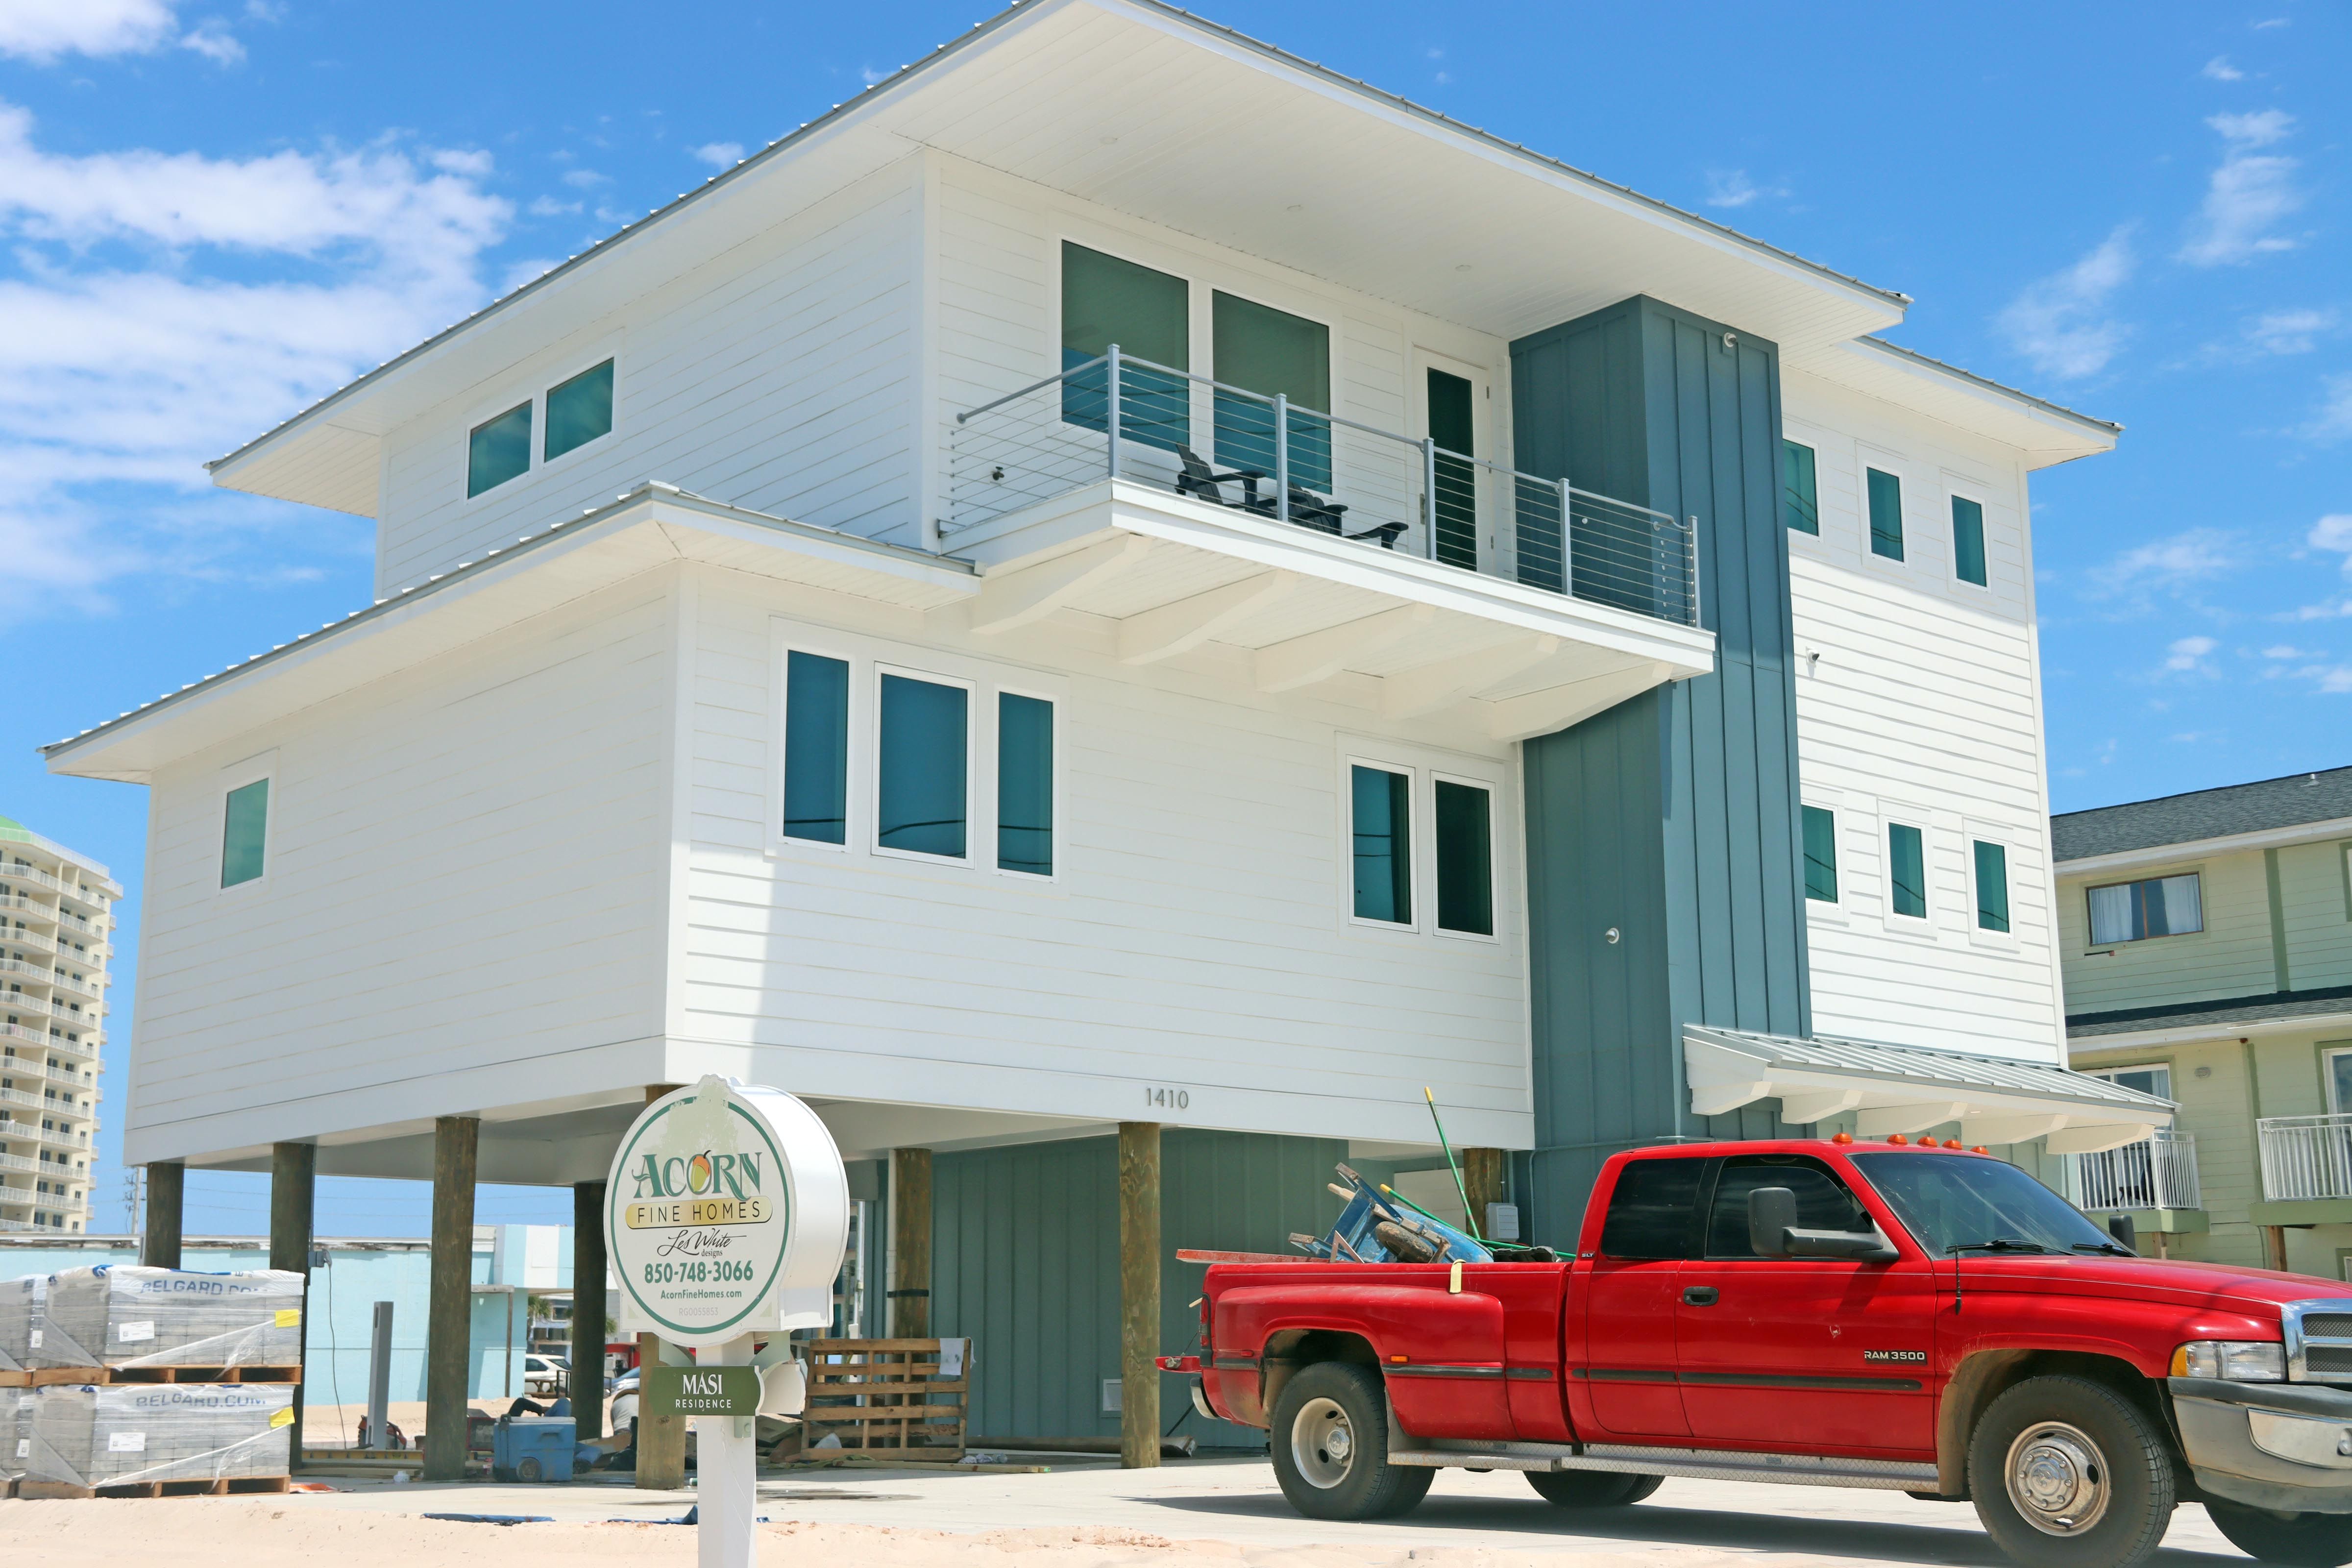
{"label": "white lap siding on lower left side wall with one small window", "polygon": [[[365,1091],[501,1065],[574,1093],[567,1053],[656,1037],[670,701],[666,604],[623,583],[158,778],[134,1135],[369,1126]],[[266,875],[221,889],[223,780],[270,755]]]}

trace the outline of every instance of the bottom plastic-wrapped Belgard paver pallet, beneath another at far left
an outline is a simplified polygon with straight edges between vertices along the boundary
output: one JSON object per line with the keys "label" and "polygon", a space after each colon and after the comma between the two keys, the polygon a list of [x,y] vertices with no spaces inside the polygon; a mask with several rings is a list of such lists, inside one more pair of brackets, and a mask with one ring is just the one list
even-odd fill
{"label": "bottom plastic-wrapped Belgard paver pallet, beneath another at far left", "polygon": [[61,1382],[19,1410],[16,1462],[59,1486],[282,1476],[292,1427],[292,1382]]}

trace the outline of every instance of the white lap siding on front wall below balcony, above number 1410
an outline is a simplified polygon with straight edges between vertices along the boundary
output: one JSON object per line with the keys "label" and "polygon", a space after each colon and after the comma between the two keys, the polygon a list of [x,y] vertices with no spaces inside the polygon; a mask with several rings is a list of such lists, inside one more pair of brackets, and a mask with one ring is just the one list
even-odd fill
{"label": "white lap siding on front wall below balcony, above number 1410", "polygon": [[[1223,1091],[1240,1110],[1221,1124],[1261,1131],[1310,1131],[1301,1105],[1334,1098],[1418,1105],[1423,1084],[1444,1105],[1526,1114],[1510,792],[1496,797],[1503,943],[1364,936],[1343,907],[1338,729],[1112,675],[1087,654],[1040,670],[948,635],[936,639],[948,654],[978,661],[950,675],[1061,684],[1056,882],[990,870],[988,778],[974,870],[868,853],[856,788],[849,853],[774,849],[781,599],[715,583],[701,592],[689,762],[689,1037],[833,1053],[826,1093],[917,1105],[941,1103],[943,1074],[978,1067]],[[854,607],[830,618],[842,630],[797,639],[856,658],[898,649],[891,663],[927,668],[894,639],[908,621]]]}

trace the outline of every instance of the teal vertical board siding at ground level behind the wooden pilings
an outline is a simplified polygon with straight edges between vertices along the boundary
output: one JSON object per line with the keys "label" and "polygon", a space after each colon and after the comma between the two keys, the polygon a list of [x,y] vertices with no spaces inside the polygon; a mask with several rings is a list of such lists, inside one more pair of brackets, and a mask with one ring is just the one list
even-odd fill
{"label": "teal vertical board siding at ground level behind the wooden pilings", "polygon": [[[1160,1349],[1190,1354],[1202,1265],[1176,1248],[1287,1253],[1329,1229],[1324,1192],[1348,1145],[1329,1138],[1169,1128],[1160,1150]],[[1103,1380],[1120,1375],[1120,1150],[1115,1138],[1025,1143],[931,1161],[931,1328],[971,1335],[976,1436],[1117,1436]],[[1160,1389],[1162,1425],[1190,1408]],[[1261,1448],[1265,1434],[1185,1415],[1178,1434]]]}

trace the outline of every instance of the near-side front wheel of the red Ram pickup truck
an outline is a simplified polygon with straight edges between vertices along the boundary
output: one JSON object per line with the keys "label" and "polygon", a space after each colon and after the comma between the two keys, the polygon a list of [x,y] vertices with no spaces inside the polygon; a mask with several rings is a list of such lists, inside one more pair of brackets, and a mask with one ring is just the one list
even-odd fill
{"label": "near-side front wheel of the red Ram pickup truck", "polygon": [[1969,1495],[2025,1568],[2136,1568],[2173,1519],[2171,1443],[2110,1387],[2027,1378],[1978,1418]]}

